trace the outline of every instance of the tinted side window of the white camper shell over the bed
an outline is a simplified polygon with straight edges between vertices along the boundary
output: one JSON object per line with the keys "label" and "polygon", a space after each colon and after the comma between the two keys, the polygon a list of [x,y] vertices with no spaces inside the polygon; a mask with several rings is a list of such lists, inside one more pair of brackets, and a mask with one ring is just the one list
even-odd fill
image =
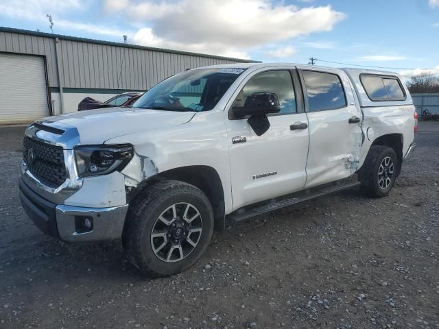
{"label": "tinted side window of the white camper shell over the bed", "polygon": [[405,99],[401,83],[396,77],[361,75],[361,84],[372,101],[399,101]]}

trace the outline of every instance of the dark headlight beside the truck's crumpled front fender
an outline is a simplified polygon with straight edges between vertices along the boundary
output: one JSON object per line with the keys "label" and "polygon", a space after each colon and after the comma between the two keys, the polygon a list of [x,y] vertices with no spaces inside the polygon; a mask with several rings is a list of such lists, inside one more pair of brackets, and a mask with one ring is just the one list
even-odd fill
{"label": "dark headlight beside the truck's crumpled front fender", "polygon": [[132,145],[90,145],[75,148],[80,177],[106,175],[121,171],[132,159]]}

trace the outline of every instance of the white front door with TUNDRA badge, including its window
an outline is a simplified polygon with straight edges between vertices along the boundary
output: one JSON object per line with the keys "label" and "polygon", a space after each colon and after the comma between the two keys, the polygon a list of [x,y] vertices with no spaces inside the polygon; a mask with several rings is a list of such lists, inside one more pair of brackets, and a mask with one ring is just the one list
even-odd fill
{"label": "white front door with TUNDRA badge, including its window", "polygon": [[[233,106],[243,106],[253,93],[276,93],[281,103],[281,112],[268,115],[270,128],[261,136],[254,133],[248,118],[233,117]],[[308,153],[303,109],[295,69],[259,70],[241,84],[226,118],[233,210],[303,188]]]}

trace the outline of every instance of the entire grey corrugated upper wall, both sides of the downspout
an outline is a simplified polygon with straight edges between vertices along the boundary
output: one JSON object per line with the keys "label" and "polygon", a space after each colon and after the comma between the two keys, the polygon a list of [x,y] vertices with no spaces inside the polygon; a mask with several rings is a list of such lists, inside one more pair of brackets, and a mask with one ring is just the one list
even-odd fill
{"label": "entire grey corrugated upper wall, both sides of the downspout", "polygon": [[0,51],[46,56],[49,87],[60,86],[56,47],[63,88],[145,90],[185,69],[247,62],[8,30],[0,29]]}

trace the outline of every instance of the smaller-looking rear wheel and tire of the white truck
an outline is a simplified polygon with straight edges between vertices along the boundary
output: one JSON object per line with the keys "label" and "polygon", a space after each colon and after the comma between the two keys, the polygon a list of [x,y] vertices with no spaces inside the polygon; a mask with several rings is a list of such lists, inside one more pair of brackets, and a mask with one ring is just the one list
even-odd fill
{"label": "smaller-looking rear wheel and tire of the white truck", "polygon": [[387,146],[372,146],[359,175],[361,191],[368,197],[385,197],[396,180],[399,163],[395,151]]}

